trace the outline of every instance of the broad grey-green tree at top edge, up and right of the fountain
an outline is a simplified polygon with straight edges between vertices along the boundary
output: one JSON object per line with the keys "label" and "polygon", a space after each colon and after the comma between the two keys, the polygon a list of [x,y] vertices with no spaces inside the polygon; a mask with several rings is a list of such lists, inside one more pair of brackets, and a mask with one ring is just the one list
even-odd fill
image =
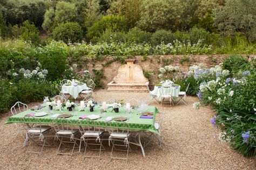
{"label": "broad grey-green tree at top edge, up and right of the fountain", "polygon": [[184,6],[179,0],[144,0],[139,27],[154,32],[160,29],[177,30]]}

